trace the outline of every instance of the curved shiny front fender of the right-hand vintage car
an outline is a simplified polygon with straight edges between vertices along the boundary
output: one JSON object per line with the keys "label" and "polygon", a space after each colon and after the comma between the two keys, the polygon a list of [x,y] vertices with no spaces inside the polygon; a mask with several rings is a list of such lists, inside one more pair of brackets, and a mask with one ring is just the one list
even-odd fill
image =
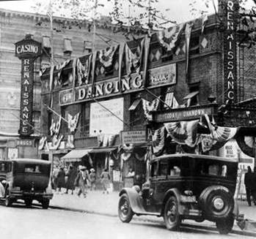
{"label": "curved shiny front fender of the right-hand vintage car", "polygon": [[131,209],[136,214],[147,214],[145,208],[142,205],[142,197],[140,197],[138,191],[133,188],[124,188],[120,191],[119,196],[127,194],[131,205]]}

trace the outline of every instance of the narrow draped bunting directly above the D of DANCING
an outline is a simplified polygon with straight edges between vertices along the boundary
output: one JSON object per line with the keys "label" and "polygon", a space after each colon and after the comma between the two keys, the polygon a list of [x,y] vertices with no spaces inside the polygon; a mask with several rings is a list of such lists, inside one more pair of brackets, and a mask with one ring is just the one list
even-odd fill
{"label": "narrow draped bunting directly above the D of DANCING", "polygon": [[89,71],[91,67],[92,54],[90,54],[84,64],[81,64],[80,59],[76,61],[76,75],[78,80],[78,86],[81,86],[83,83],[86,85],[89,83]]}

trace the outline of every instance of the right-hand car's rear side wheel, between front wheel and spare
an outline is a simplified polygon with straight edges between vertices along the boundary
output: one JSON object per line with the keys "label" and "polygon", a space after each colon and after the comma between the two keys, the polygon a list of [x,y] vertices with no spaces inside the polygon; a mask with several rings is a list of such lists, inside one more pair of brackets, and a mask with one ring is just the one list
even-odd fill
{"label": "right-hand car's rear side wheel, between front wheel and spare", "polygon": [[169,197],[164,205],[164,223],[167,229],[177,230],[180,228],[180,213],[178,211],[178,200],[176,197]]}

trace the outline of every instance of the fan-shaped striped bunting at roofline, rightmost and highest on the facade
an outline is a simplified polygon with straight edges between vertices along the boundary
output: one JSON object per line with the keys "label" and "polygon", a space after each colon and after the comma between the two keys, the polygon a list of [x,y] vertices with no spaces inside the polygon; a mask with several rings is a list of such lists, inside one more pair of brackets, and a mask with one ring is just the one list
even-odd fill
{"label": "fan-shaped striped bunting at roofline, rightmost and highest on the facade", "polygon": [[184,23],[158,31],[158,39],[161,45],[167,50],[171,51],[175,48],[175,44],[180,37],[180,33],[183,30]]}

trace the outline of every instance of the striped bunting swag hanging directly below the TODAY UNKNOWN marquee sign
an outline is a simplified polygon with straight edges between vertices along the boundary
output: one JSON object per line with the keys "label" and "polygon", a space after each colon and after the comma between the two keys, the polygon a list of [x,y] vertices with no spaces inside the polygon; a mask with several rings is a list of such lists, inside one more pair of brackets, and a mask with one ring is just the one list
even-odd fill
{"label": "striped bunting swag hanging directly below the TODAY UNKNOWN marquee sign", "polygon": [[195,147],[200,140],[200,134],[197,134],[197,121],[179,121],[164,124],[167,133],[172,140],[181,145]]}

